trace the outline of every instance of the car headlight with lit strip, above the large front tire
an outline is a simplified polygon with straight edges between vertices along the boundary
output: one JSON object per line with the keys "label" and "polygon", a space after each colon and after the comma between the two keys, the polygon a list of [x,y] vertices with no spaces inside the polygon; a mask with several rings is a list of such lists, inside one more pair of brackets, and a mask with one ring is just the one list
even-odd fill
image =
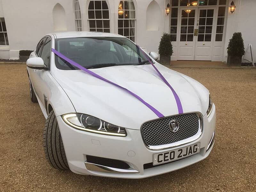
{"label": "car headlight with lit strip, above the large front tire", "polygon": [[122,137],[127,135],[123,127],[110,124],[90,115],[69,113],[62,115],[61,117],[71,127],[82,131]]}

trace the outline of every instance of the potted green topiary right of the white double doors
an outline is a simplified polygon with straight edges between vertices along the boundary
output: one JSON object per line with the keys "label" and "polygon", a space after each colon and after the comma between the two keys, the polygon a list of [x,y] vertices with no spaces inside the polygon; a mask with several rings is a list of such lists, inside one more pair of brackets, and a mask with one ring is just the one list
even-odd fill
{"label": "potted green topiary right of the white double doors", "polygon": [[241,66],[244,55],[244,40],[241,32],[236,32],[228,43],[228,65]]}

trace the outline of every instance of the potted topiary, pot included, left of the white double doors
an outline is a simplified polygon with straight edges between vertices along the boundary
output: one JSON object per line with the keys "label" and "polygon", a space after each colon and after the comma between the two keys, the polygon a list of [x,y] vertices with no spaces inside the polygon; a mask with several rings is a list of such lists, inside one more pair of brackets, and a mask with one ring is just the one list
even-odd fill
{"label": "potted topiary, pot included, left of the white double doors", "polygon": [[171,56],[172,56],[172,41],[171,35],[164,33],[161,37],[161,41],[158,47],[158,53],[160,55],[160,63],[163,65],[171,64]]}

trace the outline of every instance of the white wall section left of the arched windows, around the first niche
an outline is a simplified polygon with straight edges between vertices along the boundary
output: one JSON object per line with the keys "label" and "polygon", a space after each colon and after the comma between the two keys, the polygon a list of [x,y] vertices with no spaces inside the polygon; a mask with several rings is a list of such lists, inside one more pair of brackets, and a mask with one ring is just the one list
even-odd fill
{"label": "white wall section left of the arched windows, around the first niche", "polygon": [[[10,44],[9,58],[18,59],[19,50],[34,50],[42,36],[54,32],[53,29],[53,7],[59,3],[58,0],[0,0],[3,7],[4,19]],[[61,1],[65,9],[67,30],[75,29],[73,14],[73,2]],[[0,6],[1,14],[1,6]],[[0,58],[7,58],[6,53],[0,51]]]}

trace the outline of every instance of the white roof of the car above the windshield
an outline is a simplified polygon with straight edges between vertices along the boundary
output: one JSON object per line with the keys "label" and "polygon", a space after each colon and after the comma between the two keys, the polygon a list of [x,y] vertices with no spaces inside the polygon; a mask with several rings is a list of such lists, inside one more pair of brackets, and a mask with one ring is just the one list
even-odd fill
{"label": "white roof of the car above the windshield", "polygon": [[93,32],[93,31],[68,31],[52,33],[55,38],[69,38],[69,37],[123,37],[113,33]]}

